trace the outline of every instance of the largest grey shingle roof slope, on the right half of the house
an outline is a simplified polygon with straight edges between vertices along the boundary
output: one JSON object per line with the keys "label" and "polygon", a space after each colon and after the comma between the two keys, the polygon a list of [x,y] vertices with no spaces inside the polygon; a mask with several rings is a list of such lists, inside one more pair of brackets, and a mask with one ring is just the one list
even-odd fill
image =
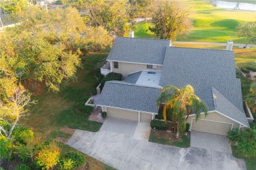
{"label": "largest grey shingle roof slope, on the right half of the house", "polygon": [[167,47],[160,86],[181,88],[187,84],[196,94],[213,86],[244,112],[232,51]]}

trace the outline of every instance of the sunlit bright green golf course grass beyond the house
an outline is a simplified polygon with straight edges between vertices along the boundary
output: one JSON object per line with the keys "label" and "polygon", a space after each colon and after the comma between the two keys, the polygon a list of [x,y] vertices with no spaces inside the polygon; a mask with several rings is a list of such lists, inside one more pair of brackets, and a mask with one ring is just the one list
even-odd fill
{"label": "sunlit bright green golf course grass beyond the house", "polygon": [[[177,41],[226,42],[232,39],[234,43],[247,43],[249,39],[237,37],[236,27],[242,22],[254,22],[255,12],[224,10],[212,7],[205,1],[187,1],[192,7],[190,18],[192,31],[177,37]],[[135,37],[156,38],[148,30],[152,23],[135,25]]]}

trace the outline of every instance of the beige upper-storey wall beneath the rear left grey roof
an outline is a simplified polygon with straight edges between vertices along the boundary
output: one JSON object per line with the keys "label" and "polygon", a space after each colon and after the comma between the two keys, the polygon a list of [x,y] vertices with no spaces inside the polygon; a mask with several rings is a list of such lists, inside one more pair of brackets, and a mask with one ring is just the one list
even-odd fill
{"label": "beige upper-storey wall beneath the rear left grey roof", "polygon": [[158,65],[157,69],[147,69],[146,64],[137,64],[137,63],[123,63],[118,62],[118,69],[114,68],[114,61],[111,61],[112,72],[113,73],[120,73],[122,75],[123,80],[129,75],[130,73],[134,73],[136,71],[141,70],[150,70],[150,71],[161,71],[163,69],[162,65]]}

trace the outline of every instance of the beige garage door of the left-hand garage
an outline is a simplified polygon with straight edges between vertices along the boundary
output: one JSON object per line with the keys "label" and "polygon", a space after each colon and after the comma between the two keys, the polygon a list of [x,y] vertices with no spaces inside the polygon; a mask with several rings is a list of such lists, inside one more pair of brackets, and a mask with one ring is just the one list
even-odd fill
{"label": "beige garage door of the left-hand garage", "polygon": [[107,116],[112,118],[122,118],[126,120],[138,121],[138,112],[129,110],[107,108]]}

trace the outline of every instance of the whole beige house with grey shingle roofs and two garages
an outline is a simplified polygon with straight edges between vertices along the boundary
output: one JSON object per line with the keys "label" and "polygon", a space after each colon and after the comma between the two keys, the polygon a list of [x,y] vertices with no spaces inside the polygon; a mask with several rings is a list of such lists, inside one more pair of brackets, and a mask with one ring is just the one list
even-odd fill
{"label": "whole beige house with grey shingle roofs and two garages", "polygon": [[230,50],[179,48],[171,41],[118,37],[102,73],[121,73],[123,81],[106,82],[94,104],[109,117],[150,122],[158,114],[156,99],[167,85],[190,84],[209,107],[209,115],[190,130],[226,135],[235,127],[247,127],[240,79],[236,78],[234,53]]}

